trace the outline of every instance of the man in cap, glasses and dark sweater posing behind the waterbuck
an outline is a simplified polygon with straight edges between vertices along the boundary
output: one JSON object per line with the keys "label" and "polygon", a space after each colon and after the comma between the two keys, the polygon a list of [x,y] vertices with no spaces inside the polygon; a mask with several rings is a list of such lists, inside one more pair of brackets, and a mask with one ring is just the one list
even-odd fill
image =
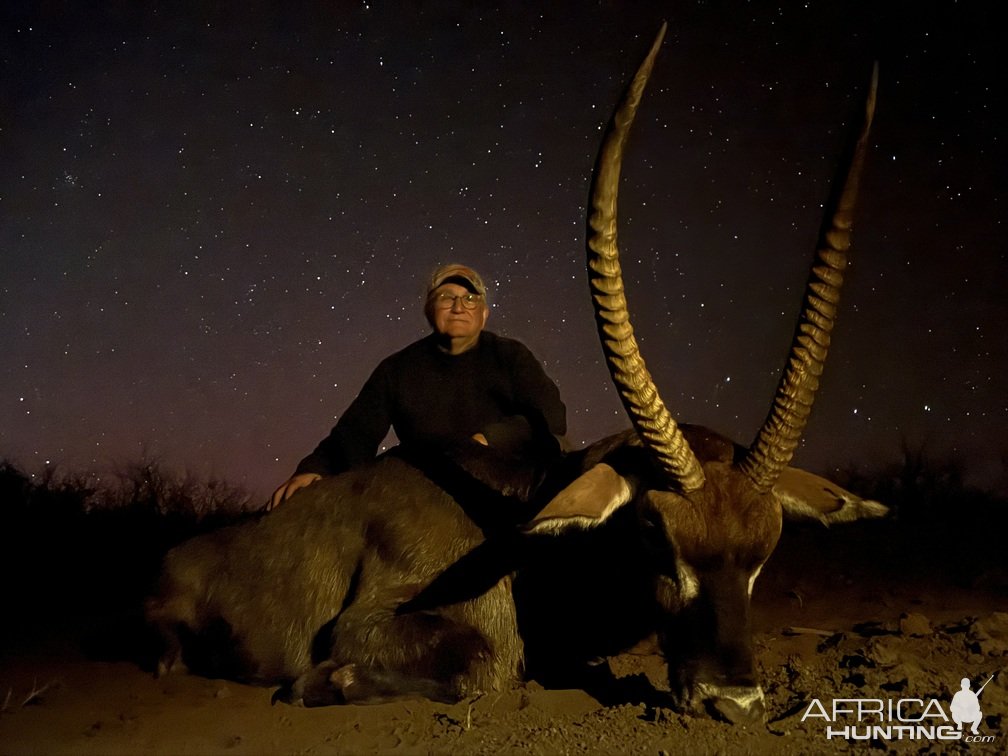
{"label": "man in cap, glasses and dark sweater posing behind the waterbuck", "polygon": [[566,432],[556,384],[520,342],[484,331],[483,279],[452,263],[434,271],[423,308],[429,336],[386,358],[314,452],[273,494],[269,508],[324,475],[374,459],[395,430],[424,452],[477,442],[534,460],[555,455]]}

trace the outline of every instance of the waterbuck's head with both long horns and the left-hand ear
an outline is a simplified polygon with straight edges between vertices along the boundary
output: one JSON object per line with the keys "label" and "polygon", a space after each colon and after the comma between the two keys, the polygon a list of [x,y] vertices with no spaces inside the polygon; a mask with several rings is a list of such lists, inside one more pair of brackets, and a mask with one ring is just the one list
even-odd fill
{"label": "waterbuck's head with both long horns and the left-hand ear", "polygon": [[830,346],[877,73],[864,121],[835,180],[770,412],[752,445],[743,448],[715,431],[675,422],[644,365],[624,296],[616,223],[620,169],[664,30],[662,26],[602,144],[589,220],[588,270],[599,336],[633,432],[590,448],[584,474],[527,529],[592,527],[630,505],[641,548],[651,554],[656,576],[659,637],[673,692],[688,708],[714,707],[730,720],[748,720],[764,714],[752,653],[750,597],[777,543],[782,510],[801,498],[780,489],[802,483],[806,475],[788,468],[788,463],[808,418]]}

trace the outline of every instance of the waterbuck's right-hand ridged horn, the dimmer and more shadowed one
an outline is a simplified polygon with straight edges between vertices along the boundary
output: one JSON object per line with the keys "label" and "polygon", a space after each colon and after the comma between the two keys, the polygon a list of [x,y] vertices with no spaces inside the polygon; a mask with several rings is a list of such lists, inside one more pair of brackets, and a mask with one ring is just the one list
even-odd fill
{"label": "waterbuck's right-hand ridged horn, the dimmer and more shadowed one", "polygon": [[777,393],[763,426],[740,469],[761,491],[773,488],[787,467],[808,420],[820,375],[830,350],[840,289],[851,246],[851,227],[858,183],[868,152],[868,133],[875,115],[878,64],[872,71],[860,132],[845,152],[834,179],[830,203],[820,230],[815,258],[805,285],[804,304],[791,341]]}

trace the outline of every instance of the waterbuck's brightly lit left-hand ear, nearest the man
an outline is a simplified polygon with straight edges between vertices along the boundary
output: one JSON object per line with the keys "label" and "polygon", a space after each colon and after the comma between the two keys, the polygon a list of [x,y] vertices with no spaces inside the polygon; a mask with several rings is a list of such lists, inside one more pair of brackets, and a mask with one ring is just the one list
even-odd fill
{"label": "waterbuck's brightly lit left-hand ear, nearest the man", "polygon": [[571,528],[595,527],[633,498],[629,480],[600,463],[560,491],[529,520],[526,533],[559,533]]}

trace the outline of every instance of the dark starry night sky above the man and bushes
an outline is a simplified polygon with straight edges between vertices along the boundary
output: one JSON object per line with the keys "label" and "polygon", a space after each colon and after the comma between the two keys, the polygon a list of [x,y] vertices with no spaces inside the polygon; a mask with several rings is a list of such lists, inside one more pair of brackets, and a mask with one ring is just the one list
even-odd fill
{"label": "dark starry night sky above the man and bushes", "polygon": [[625,427],[586,204],[667,20],[620,198],[665,403],[751,442],[877,58],[852,265],[796,464],[875,469],[908,445],[1006,490],[995,6],[8,1],[0,458],[108,471],[147,454],[264,498],[426,333],[425,279],[452,261],[490,285],[488,328],[555,379],[573,443]]}

